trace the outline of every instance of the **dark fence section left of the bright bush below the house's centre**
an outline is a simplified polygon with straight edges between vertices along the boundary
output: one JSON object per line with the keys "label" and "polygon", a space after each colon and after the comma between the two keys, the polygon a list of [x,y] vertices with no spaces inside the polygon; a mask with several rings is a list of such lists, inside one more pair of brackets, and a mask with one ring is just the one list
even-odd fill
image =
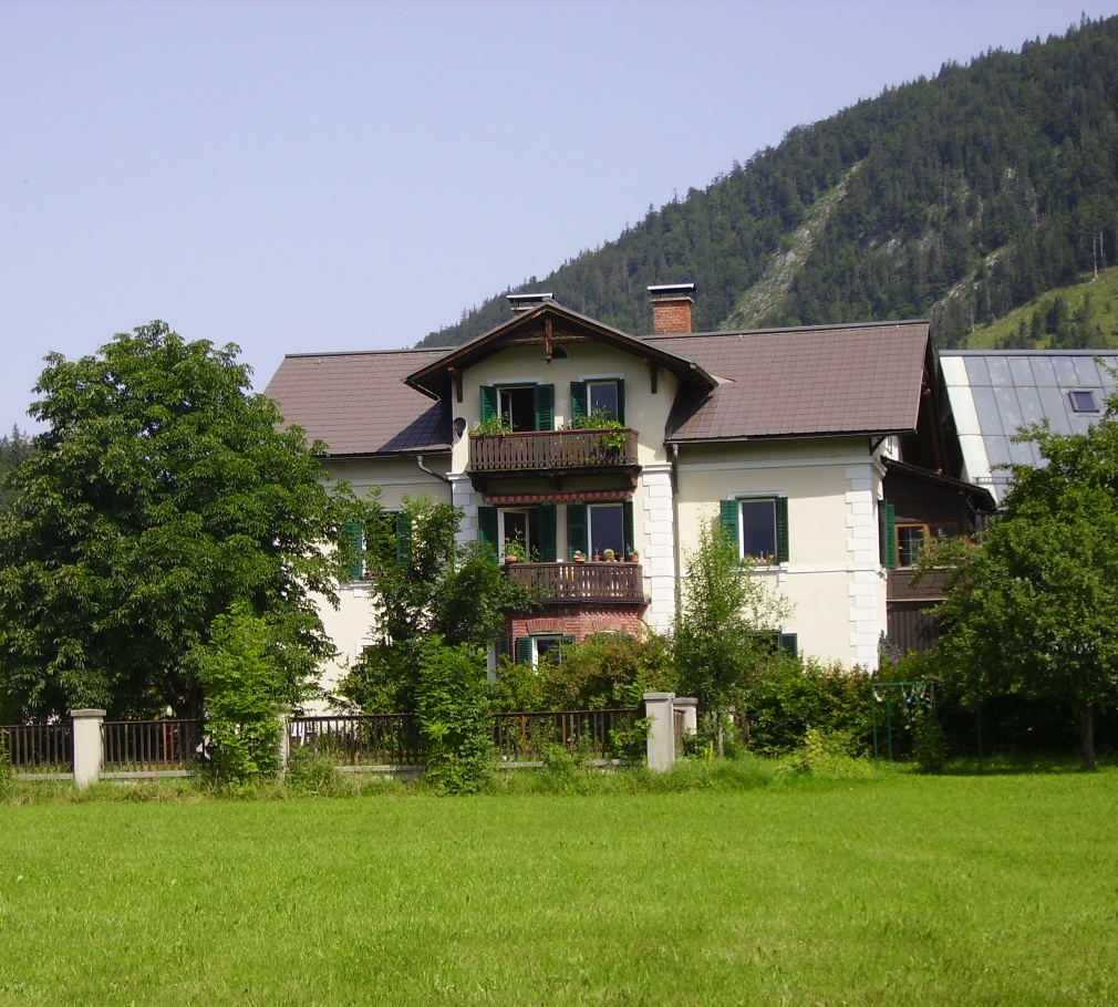
{"label": "dark fence section left of the bright bush below the house's centre", "polygon": [[419,728],[406,713],[360,716],[294,716],[290,751],[311,750],[342,766],[417,766],[423,762]]}

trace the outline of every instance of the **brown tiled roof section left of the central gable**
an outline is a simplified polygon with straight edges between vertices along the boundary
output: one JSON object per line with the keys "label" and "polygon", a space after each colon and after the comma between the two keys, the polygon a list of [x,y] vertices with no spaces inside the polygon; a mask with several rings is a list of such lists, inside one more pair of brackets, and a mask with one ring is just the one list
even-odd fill
{"label": "brown tiled roof section left of the central gable", "polygon": [[288,424],[324,440],[330,454],[416,454],[451,449],[451,419],[442,402],[404,379],[446,353],[395,350],[285,357],[264,390]]}

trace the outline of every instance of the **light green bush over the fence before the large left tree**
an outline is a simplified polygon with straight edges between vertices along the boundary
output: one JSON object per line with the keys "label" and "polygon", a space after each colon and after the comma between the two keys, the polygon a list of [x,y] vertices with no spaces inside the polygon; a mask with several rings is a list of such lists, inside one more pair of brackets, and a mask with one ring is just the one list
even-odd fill
{"label": "light green bush over the fence before the large left tree", "polygon": [[206,733],[215,775],[244,785],[280,768],[277,718],[292,695],[283,648],[268,624],[244,602],[214,621],[212,636],[195,655],[206,692]]}

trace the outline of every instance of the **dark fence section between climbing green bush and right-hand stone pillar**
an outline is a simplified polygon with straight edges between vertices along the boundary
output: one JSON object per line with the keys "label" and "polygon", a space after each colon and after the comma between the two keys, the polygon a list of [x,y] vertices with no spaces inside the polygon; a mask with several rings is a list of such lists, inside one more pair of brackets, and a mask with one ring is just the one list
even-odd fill
{"label": "dark fence section between climbing green bush and right-hand stone pillar", "polygon": [[560,713],[499,713],[493,744],[510,762],[534,762],[548,745],[562,745],[590,759],[639,756],[645,738],[639,710],[568,710]]}

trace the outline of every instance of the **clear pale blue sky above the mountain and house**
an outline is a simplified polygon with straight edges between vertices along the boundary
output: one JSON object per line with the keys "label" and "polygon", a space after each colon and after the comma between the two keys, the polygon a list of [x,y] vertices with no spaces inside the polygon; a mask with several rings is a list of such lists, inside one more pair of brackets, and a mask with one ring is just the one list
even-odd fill
{"label": "clear pale blue sky above the mountain and house", "polygon": [[1118,0],[0,0],[0,431],[39,429],[47,353],[154,319],[257,390],[284,353],[414,345],[1082,12]]}

